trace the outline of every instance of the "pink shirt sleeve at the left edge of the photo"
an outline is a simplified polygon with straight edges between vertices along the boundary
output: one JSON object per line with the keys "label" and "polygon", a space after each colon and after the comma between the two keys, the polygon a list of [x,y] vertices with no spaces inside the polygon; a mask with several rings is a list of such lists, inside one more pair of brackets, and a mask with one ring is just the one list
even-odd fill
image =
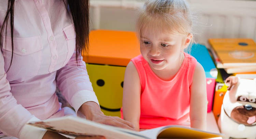
{"label": "pink shirt sleeve at the left edge of the photo", "polygon": [[6,79],[4,59],[0,51],[0,131],[7,136],[20,138],[22,127],[33,117],[13,97],[9,81]]}

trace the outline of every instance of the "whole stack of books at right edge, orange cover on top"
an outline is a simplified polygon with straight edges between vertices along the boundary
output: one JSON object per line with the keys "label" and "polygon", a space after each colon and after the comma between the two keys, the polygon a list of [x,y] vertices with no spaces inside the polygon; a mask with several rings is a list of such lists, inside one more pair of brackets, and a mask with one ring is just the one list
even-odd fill
{"label": "whole stack of books at right edge, orange cover on top", "polygon": [[253,39],[209,39],[218,69],[240,78],[256,78],[256,43]]}

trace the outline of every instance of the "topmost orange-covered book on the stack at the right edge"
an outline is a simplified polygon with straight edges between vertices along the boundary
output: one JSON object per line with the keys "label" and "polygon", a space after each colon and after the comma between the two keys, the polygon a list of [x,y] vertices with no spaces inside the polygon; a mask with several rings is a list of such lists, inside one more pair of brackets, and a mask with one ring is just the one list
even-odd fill
{"label": "topmost orange-covered book on the stack at the right edge", "polygon": [[253,39],[209,39],[215,52],[217,68],[256,66],[256,44]]}

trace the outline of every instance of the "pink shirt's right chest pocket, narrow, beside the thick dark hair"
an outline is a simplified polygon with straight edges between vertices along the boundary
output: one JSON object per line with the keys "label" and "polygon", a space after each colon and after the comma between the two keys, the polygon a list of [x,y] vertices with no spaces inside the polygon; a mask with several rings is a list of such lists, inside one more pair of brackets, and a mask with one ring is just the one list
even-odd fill
{"label": "pink shirt's right chest pocket, narrow, beside the thick dark hair", "polygon": [[63,34],[67,41],[67,47],[68,47],[68,53],[67,53],[66,60],[64,61],[63,65],[62,65],[62,66],[65,66],[75,51],[75,37],[76,36],[75,36],[74,24],[70,24],[70,25],[64,27]]}

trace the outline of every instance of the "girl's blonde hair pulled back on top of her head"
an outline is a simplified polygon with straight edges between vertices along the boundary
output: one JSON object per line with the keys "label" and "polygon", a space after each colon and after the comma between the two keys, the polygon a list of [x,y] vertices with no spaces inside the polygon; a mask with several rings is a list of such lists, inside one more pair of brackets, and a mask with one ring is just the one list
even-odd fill
{"label": "girl's blonde hair pulled back on top of her head", "polygon": [[147,0],[139,13],[136,30],[141,38],[146,30],[154,33],[188,35],[192,21],[184,0]]}

